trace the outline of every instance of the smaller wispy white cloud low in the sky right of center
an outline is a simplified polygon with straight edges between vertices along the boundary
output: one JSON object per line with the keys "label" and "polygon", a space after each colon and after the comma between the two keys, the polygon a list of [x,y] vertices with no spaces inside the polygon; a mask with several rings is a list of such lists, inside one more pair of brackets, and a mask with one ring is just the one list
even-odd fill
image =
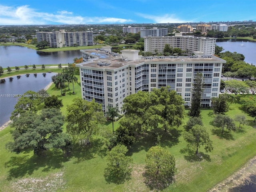
{"label": "smaller wispy white cloud low in the sky right of center", "polygon": [[185,23],[190,21],[181,20],[176,18],[174,14],[164,14],[161,16],[148,15],[142,13],[136,13],[138,16],[154,21],[154,23]]}

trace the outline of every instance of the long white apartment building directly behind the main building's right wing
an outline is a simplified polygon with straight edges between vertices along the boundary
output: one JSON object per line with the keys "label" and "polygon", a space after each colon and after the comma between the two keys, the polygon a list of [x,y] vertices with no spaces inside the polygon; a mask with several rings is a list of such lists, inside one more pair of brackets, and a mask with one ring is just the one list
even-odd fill
{"label": "long white apartment building directly behind the main building's right wing", "polygon": [[213,55],[217,38],[182,36],[181,33],[176,33],[175,36],[162,36],[144,38],[144,51],[154,53],[164,52],[165,44],[169,44],[173,48],[180,48],[185,51],[185,54],[192,55],[195,51],[204,52],[207,55]]}

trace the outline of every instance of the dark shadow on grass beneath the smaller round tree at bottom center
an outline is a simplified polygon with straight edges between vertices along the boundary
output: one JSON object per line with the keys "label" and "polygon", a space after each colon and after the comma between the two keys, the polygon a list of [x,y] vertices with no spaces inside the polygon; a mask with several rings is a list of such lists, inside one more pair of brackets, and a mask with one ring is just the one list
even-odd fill
{"label": "dark shadow on grass beneath the smaller round tree at bottom center", "polygon": [[113,168],[108,166],[104,171],[104,177],[108,184],[123,184],[125,181],[131,179],[132,168]]}

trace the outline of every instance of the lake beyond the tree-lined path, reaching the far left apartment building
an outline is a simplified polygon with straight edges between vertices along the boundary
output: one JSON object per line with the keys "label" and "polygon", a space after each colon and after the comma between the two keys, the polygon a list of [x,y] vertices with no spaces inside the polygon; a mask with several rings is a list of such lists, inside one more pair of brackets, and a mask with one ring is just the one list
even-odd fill
{"label": "lake beyond the tree-lined path, reaching the far left apartment building", "polygon": [[0,46],[0,66],[3,68],[33,64],[67,64],[80,57],[80,50],[42,52],[23,46]]}

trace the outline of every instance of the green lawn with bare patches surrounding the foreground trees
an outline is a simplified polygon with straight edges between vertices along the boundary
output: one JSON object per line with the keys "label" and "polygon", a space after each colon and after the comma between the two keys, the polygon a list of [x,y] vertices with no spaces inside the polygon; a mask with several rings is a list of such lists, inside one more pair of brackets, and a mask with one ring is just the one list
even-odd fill
{"label": "green lawn with bare patches surrounding the foreground trees", "polygon": [[[66,115],[66,106],[72,103],[75,97],[81,97],[80,82],[75,84],[75,94],[66,88],[66,96],[60,96],[60,90],[54,84],[48,89],[62,99],[64,107],[62,113]],[[210,122],[214,118],[212,109],[202,110],[202,120],[210,133],[214,150],[205,153],[199,149],[201,158],[194,152],[185,150],[186,142],[182,137],[184,124],[177,129],[163,134],[160,146],[169,150],[176,158],[178,172],[175,182],[166,188],[165,192],[206,192],[218,182],[221,182],[250,158],[256,155],[256,123],[248,116],[240,104],[231,104],[227,114],[234,117],[236,114],[245,114],[249,124],[242,126],[237,132],[224,132],[223,135]],[[112,130],[112,123],[106,126]],[[114,124],[115,129],[118,122]],[[64,125],[64,130],[65,130]],[[107,148],[100,136],[92,139],[90,146],[74,144],[72,154],[64,157],[61,151],[51,150],[44,157],[38,157],[32,150],[20,154],[6,150],[6,142],[12,139],[12,128],[7,127],[0,131],[0,191],[1,192],[151,192],[144,184],[145,157],[148,149],[154,145],[149,136],[138,140],[130,146],[128,155],[133,158],[132,178],[122,184],[107,182],[104,169],[107,166]]]}

